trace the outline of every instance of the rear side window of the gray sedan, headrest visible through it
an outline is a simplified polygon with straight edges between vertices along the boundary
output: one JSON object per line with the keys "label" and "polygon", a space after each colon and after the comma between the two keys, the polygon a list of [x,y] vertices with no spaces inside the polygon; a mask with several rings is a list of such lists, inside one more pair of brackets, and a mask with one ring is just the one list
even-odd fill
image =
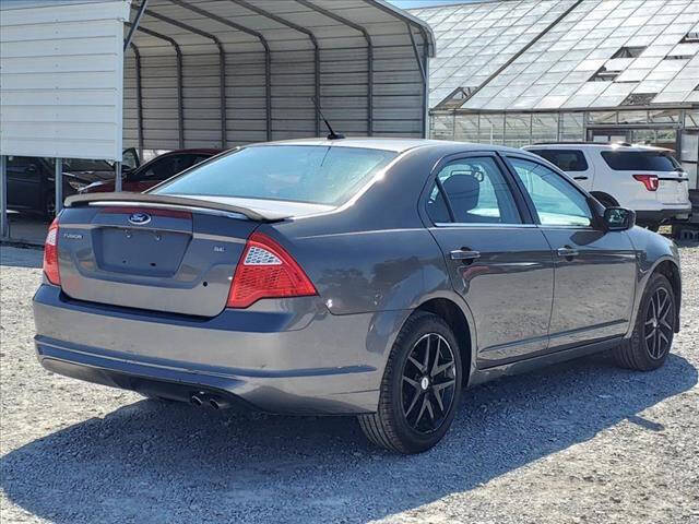
{"label": "rear side window of the gray sedan, headrest visible through it", "polygon": [[[521,224],[514,198],[494,158],[454,160],[445,166],[437,177],[451,204],[454,222]],[[437,186],[430,192],[427,213],[435,223],[450,222],[447,204]]]}

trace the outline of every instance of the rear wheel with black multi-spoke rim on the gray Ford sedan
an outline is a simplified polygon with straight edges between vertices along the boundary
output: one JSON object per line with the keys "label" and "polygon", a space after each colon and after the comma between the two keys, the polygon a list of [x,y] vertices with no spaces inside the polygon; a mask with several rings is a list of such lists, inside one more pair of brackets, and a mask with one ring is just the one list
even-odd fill
{"label": "rear wheel with black multi-spoke rim on the gray Ford sedan", "polygon": [[378,412],[358,417],[367,439],[398,453],[429,450],[453,421],[462,372],[459,344],[449,325],[433,313],[413,314],[389,355]]}

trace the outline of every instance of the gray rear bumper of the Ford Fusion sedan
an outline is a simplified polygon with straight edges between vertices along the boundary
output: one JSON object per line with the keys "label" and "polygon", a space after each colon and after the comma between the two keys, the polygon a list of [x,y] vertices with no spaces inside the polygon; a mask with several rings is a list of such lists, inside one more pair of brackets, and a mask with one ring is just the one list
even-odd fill
{"label": "gray rear bumper of the Ford Fusion sedan", "polygon": [[320,302],[194,319],[76,301],[44,284],[36,352],[57,373],[176,400],[204,391],[274,413],[375,412],[386,349],[408,312],[298,315],[294,300]]}

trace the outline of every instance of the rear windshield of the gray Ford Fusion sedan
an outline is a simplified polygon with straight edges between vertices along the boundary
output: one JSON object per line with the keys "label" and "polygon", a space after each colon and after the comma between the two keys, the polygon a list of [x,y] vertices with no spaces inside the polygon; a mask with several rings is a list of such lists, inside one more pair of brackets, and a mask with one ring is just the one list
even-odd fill
{"label": "rear windshield of the gray Ford Fusion sedan", "polygon": [[238,196],[341,204],[398,153],[320,145],[246,147],[158,187],[158,194]]}

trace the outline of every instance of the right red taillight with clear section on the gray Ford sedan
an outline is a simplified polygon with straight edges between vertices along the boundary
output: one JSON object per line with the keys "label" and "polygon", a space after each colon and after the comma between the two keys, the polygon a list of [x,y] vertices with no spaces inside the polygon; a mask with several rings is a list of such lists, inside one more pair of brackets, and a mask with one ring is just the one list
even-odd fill
{"label": "right red taillight with clear section on the gray Ford sedan", "polygon": [[228,291],[228,308],[247,308],[261,298],[316,295],[304,270],[282,246],[253,233],[242,251]]}

